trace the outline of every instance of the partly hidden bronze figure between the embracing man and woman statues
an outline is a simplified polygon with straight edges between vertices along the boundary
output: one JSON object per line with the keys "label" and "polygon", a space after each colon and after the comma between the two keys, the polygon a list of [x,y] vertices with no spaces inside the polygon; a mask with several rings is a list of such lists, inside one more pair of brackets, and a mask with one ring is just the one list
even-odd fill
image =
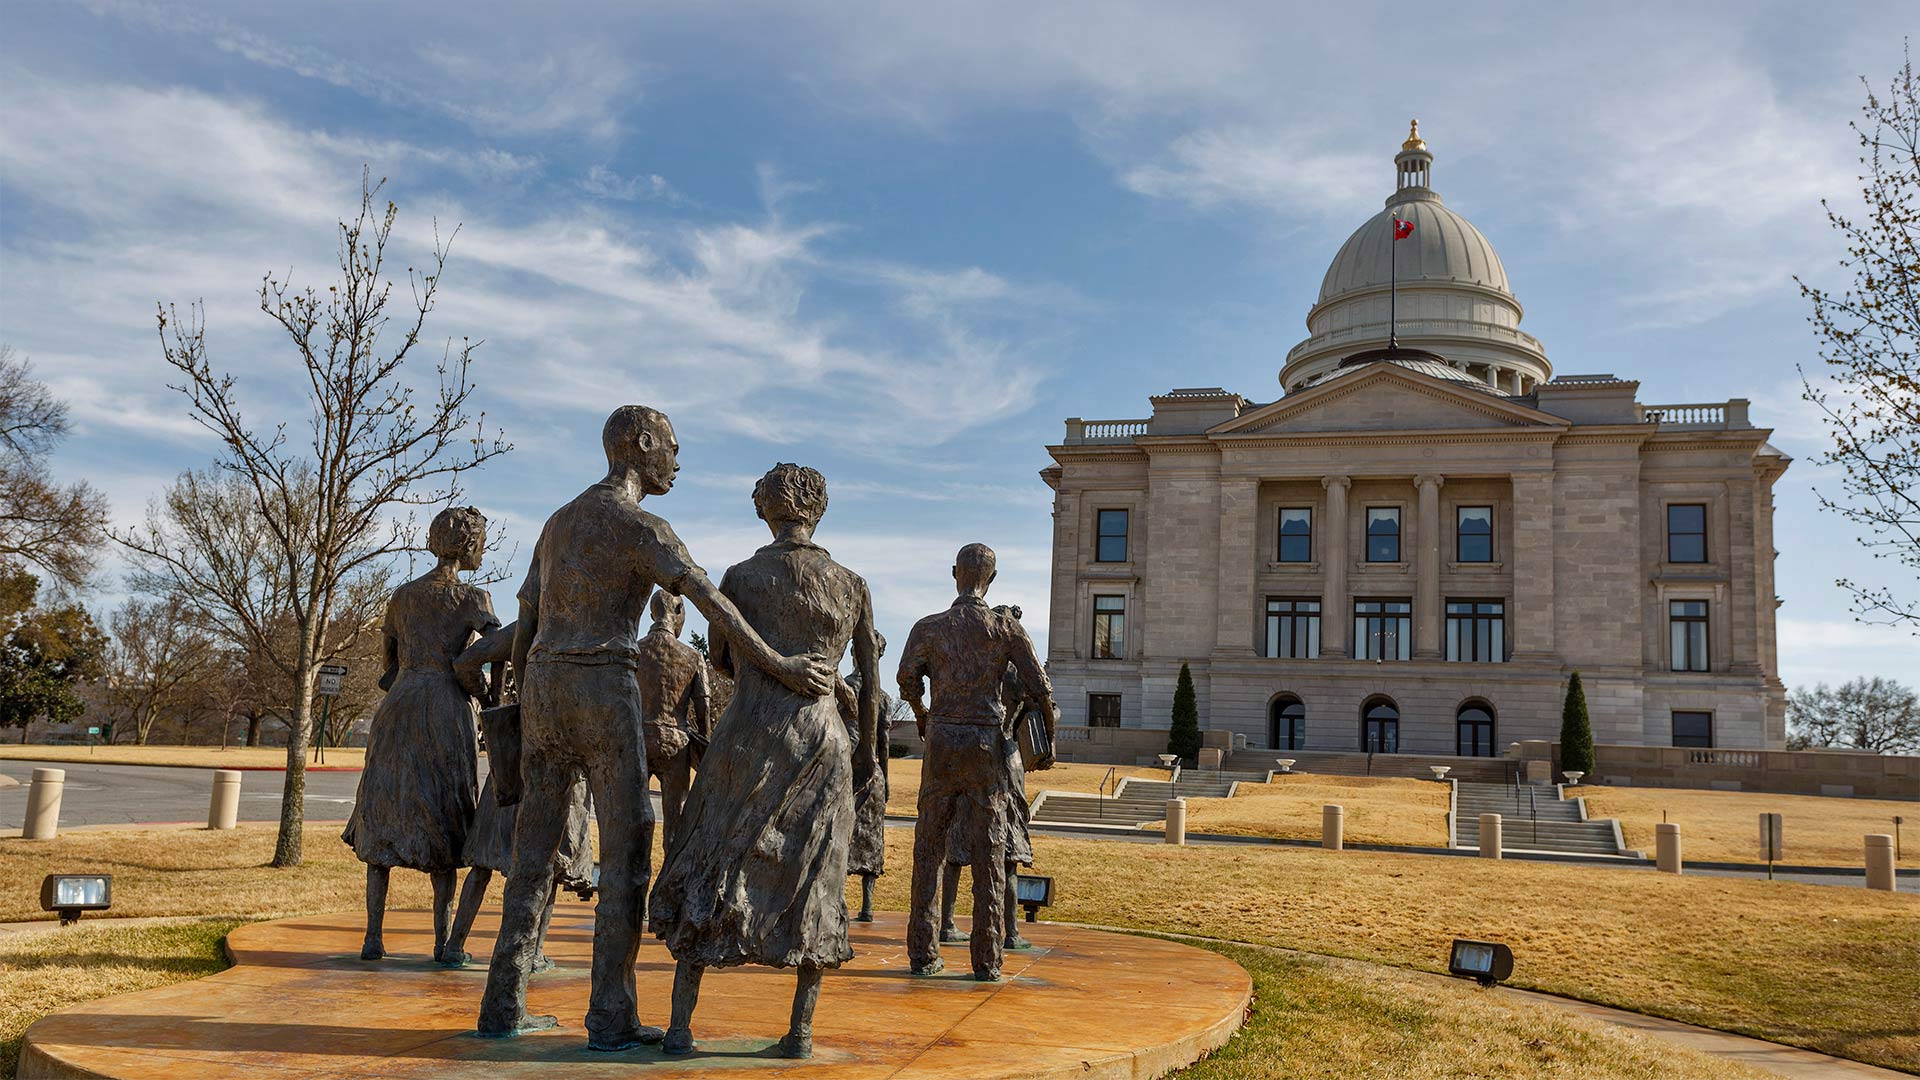
{"label": "partly hidden bronze figure between the embracing man and woman statues", "polygon": [[662,847],[672,849],[680,809],[687,803],[697,749],[712,734],[707,657],[680,640],[687,625],[685,603],[664,588],[647,603],[653,628],[639,640],[634,676],[647,709],[647,773],[660,778]]}

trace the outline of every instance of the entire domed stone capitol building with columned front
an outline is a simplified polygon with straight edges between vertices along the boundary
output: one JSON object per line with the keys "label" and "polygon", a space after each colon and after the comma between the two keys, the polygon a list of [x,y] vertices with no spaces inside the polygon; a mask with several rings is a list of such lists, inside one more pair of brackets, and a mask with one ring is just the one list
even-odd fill
{"label": "entire domed stone capitol building with columned front", "polygon": [[1599,744],[1782,748],[1789,459],[1741,398],[1555,375],[1432,161],[1415,127],[1279,400],[1167,390],[1046,448],[1062,724],[1167,728],[1185,663],[1248,746],[1500,755],[1578,671]]}

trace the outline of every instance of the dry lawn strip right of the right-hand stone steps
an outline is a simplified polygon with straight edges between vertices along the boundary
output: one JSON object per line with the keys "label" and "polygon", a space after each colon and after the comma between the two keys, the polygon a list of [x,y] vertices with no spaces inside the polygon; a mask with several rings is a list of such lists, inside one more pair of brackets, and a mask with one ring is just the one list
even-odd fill
{"label": "dry lawn strip right of the right-hand stone steps", "polygon": [[1786,828],[1786,861],[1812,867],[1859,867],[1868,832],[1893,832],[1905,817],[1901,846],[1908,867],[1920,865],[1920,803],[1893,799],[1834,799],[1768,796],[1761,792],[1690,792],[1680,788],[1571,788],[1586,798],[1588,817],[1620,821],[1628,847],[1653,853],[1653,826],[1680,826],[1684,859],[1755,863],[1761,859],[1761,815],[1778,813]]}

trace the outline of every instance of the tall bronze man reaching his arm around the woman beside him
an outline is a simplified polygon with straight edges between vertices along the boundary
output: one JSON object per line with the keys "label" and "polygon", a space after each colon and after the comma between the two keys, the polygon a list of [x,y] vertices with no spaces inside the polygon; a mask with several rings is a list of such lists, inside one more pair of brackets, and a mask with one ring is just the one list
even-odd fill
{"label": "tall bronze man reaching his arm around the woman beside him", "polygon": [[557,1026],[526,1015],[526,976],[540,945],[540,913],[566,830],[568,790],[586,773],[601,826],[601,888],[593,917],[588,1047],[659,1042],[634,1001],[634,957],[653,855],[645,711],[634,665],[636,630],[659,586],[707,615],[732,653],[795,694],[833,692],[820,655],[785,657],[741,619],[693,561],[674,528],[641,509],[680,471],[680,442],[664,413],[622,405],[601,430],[607,477],[553,511],[520,586],[513,669],[520,678],[524,803],[507,872],[499,938],[480,1001],[480,1034],[513,1036]]}

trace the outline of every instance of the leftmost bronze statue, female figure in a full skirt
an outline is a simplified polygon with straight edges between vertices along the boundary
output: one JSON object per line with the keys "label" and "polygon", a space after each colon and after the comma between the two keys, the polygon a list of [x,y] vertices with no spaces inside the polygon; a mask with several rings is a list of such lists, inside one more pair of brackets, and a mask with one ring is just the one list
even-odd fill
{"label": "leftmost bronze statue, female figure in a full skirt", "polygon": [[386,603],[386,698],[372,713],[359,798],[342,832],[367,863],[367,940],[361,959],[386,955],[386,882],[394,867],[434,880],[434,959],[444,959],[453,919],[453,874],[465,863],[480,788],[474,703],[453,676],[453,659],[499,626],[484,588],[461,580],[480,569],[486,517],[449,507],[426,530],[434,569],[394,590]]}

